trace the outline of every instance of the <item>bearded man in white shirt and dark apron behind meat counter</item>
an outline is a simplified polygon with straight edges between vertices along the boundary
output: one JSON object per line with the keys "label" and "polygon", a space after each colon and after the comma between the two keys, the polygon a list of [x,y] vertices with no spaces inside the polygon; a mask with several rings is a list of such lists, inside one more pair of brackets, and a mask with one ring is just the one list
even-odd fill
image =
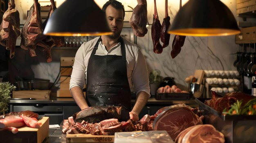
{"label": "bearded man in white shirt and dark apron behind meat counter", "polygon": [[[150,97],[146,61],[136,44],[122,38],[124,6],[116,0],[103,5],[113,32],[85,42],[78,49],[70,79],[70,91],[82,109],[89,106],[122,105],[130,111],[130,119],[138,114]],[[86,79],[86,97],[83,85]],[[131,110],[131,92],[137,99]]]}

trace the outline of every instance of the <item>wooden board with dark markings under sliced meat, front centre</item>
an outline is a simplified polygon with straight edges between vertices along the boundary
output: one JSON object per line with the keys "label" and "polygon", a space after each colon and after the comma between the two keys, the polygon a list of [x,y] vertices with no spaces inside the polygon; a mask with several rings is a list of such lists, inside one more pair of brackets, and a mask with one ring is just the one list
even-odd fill
{"label": "wooden board with dark markings under sliced meat, front centre", "polygon": [[[141,131],[134,131],[141,132]],[[67,143],[114,143],[115,136],[92,134],[67,134]]]}

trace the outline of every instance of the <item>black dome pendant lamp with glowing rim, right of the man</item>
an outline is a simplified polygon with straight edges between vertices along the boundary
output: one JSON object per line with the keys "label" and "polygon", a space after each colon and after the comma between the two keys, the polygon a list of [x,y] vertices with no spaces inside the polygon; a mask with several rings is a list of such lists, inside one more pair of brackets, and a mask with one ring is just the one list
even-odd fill
{"label": "black dome pendant lamp with glowing rim, right of the man", "polygon": [[226,36],[240,33],[236,19],[220,0],[189,0],[168,28],[169,34]]}

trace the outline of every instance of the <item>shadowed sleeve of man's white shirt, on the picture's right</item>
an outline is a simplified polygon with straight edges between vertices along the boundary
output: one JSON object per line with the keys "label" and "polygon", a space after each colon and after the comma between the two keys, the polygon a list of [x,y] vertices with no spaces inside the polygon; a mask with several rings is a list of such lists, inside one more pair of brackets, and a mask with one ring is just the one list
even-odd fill
{"label": "shadowed sleeve of man's white shirt, on the picture's right", "polygon": [[150,97],[150,87],[148,79],[148,70],[146,66],[146,60],[144,55],[138,50],[137,55],[135,55],[135,64],[132,71],[132,81],[134,85],[134,90],[137,94],[140,91],[148,93]]}

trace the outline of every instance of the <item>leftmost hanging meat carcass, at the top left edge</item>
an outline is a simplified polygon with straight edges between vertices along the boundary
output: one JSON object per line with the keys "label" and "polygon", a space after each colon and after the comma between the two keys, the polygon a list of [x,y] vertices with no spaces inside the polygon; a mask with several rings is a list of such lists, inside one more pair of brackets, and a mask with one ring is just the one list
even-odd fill
{"label": "leftmost hanging meat carcass, at the top left edge", "polygon": [[6,46],[7,50],[10,50],[10,58],[13,58],[15,55],[15,45],[19,35],[20,14],[15,9],[14,0],[10,0],[0,25],[0,44]]}

